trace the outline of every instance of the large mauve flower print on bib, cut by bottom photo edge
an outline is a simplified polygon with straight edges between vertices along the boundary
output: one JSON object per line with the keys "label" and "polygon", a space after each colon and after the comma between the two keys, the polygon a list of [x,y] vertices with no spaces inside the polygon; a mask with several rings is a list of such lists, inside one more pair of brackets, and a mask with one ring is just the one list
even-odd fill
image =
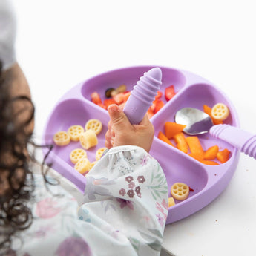
{"label": "large mauve flower print on bib, cut by bottom photo edge", "polygon": [[90,256],[88,243],[80,237],[68,237],[58,247],[57,256]]}

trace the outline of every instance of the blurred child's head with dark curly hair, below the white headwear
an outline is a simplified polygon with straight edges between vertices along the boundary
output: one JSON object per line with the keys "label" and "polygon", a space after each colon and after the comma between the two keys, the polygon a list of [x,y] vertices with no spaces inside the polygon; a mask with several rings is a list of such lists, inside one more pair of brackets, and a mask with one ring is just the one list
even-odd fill
{"label": "blurred child's head with dark curly hair, below the white headwear", "polygon": [[[19,76],[2,71],[0,62],[0,255],[17,231],[30,225],[26,203],[33,189],[27,144],[32,134],[34,109],[29,97],[16,95]],[[31,179],[27,180],[27,177]]]}

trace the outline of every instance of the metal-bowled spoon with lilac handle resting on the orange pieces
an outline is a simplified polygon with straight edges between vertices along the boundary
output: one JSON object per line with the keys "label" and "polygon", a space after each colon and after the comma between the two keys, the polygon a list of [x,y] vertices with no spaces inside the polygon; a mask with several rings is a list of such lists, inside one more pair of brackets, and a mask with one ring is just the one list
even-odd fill
{"label": "metal-bowled spoon with lilac handle resting on the orange pieces", "polygon": [[256,159],[256,135],[231,125],[213,125],[211,117],[197,108],[182,108],[175,114],[175,122],[186,125],[189,135],[206,134],[224,140],[244,154]]}

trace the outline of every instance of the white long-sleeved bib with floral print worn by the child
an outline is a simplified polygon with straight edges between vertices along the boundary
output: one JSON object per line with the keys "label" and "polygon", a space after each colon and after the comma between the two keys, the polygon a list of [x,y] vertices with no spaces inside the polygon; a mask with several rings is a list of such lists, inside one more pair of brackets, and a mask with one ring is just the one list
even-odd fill
{"label": "white long-sleeved bib with floral print worn by the child", "polygon": [[160,255],[168,187],[159,163],[142,148],[111,148],[87,175],[81,206],[35,177],[34,220],[15,240],[16,255]]}

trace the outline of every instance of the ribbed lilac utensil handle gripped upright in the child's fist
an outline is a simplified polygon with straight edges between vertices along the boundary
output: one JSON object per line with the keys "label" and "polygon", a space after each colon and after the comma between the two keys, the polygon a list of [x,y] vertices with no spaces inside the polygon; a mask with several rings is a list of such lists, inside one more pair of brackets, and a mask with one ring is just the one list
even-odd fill
{"label": "ribbed lilac utensil handle gripped upright in the child's fist", "polygon": [[128,101],[125,103],[124,112],[131,124],[138,124],[152,105],[157,91],[162,85],[162,71],[160,68],[152,68],[140,77],[140,80],[134,85]]}

